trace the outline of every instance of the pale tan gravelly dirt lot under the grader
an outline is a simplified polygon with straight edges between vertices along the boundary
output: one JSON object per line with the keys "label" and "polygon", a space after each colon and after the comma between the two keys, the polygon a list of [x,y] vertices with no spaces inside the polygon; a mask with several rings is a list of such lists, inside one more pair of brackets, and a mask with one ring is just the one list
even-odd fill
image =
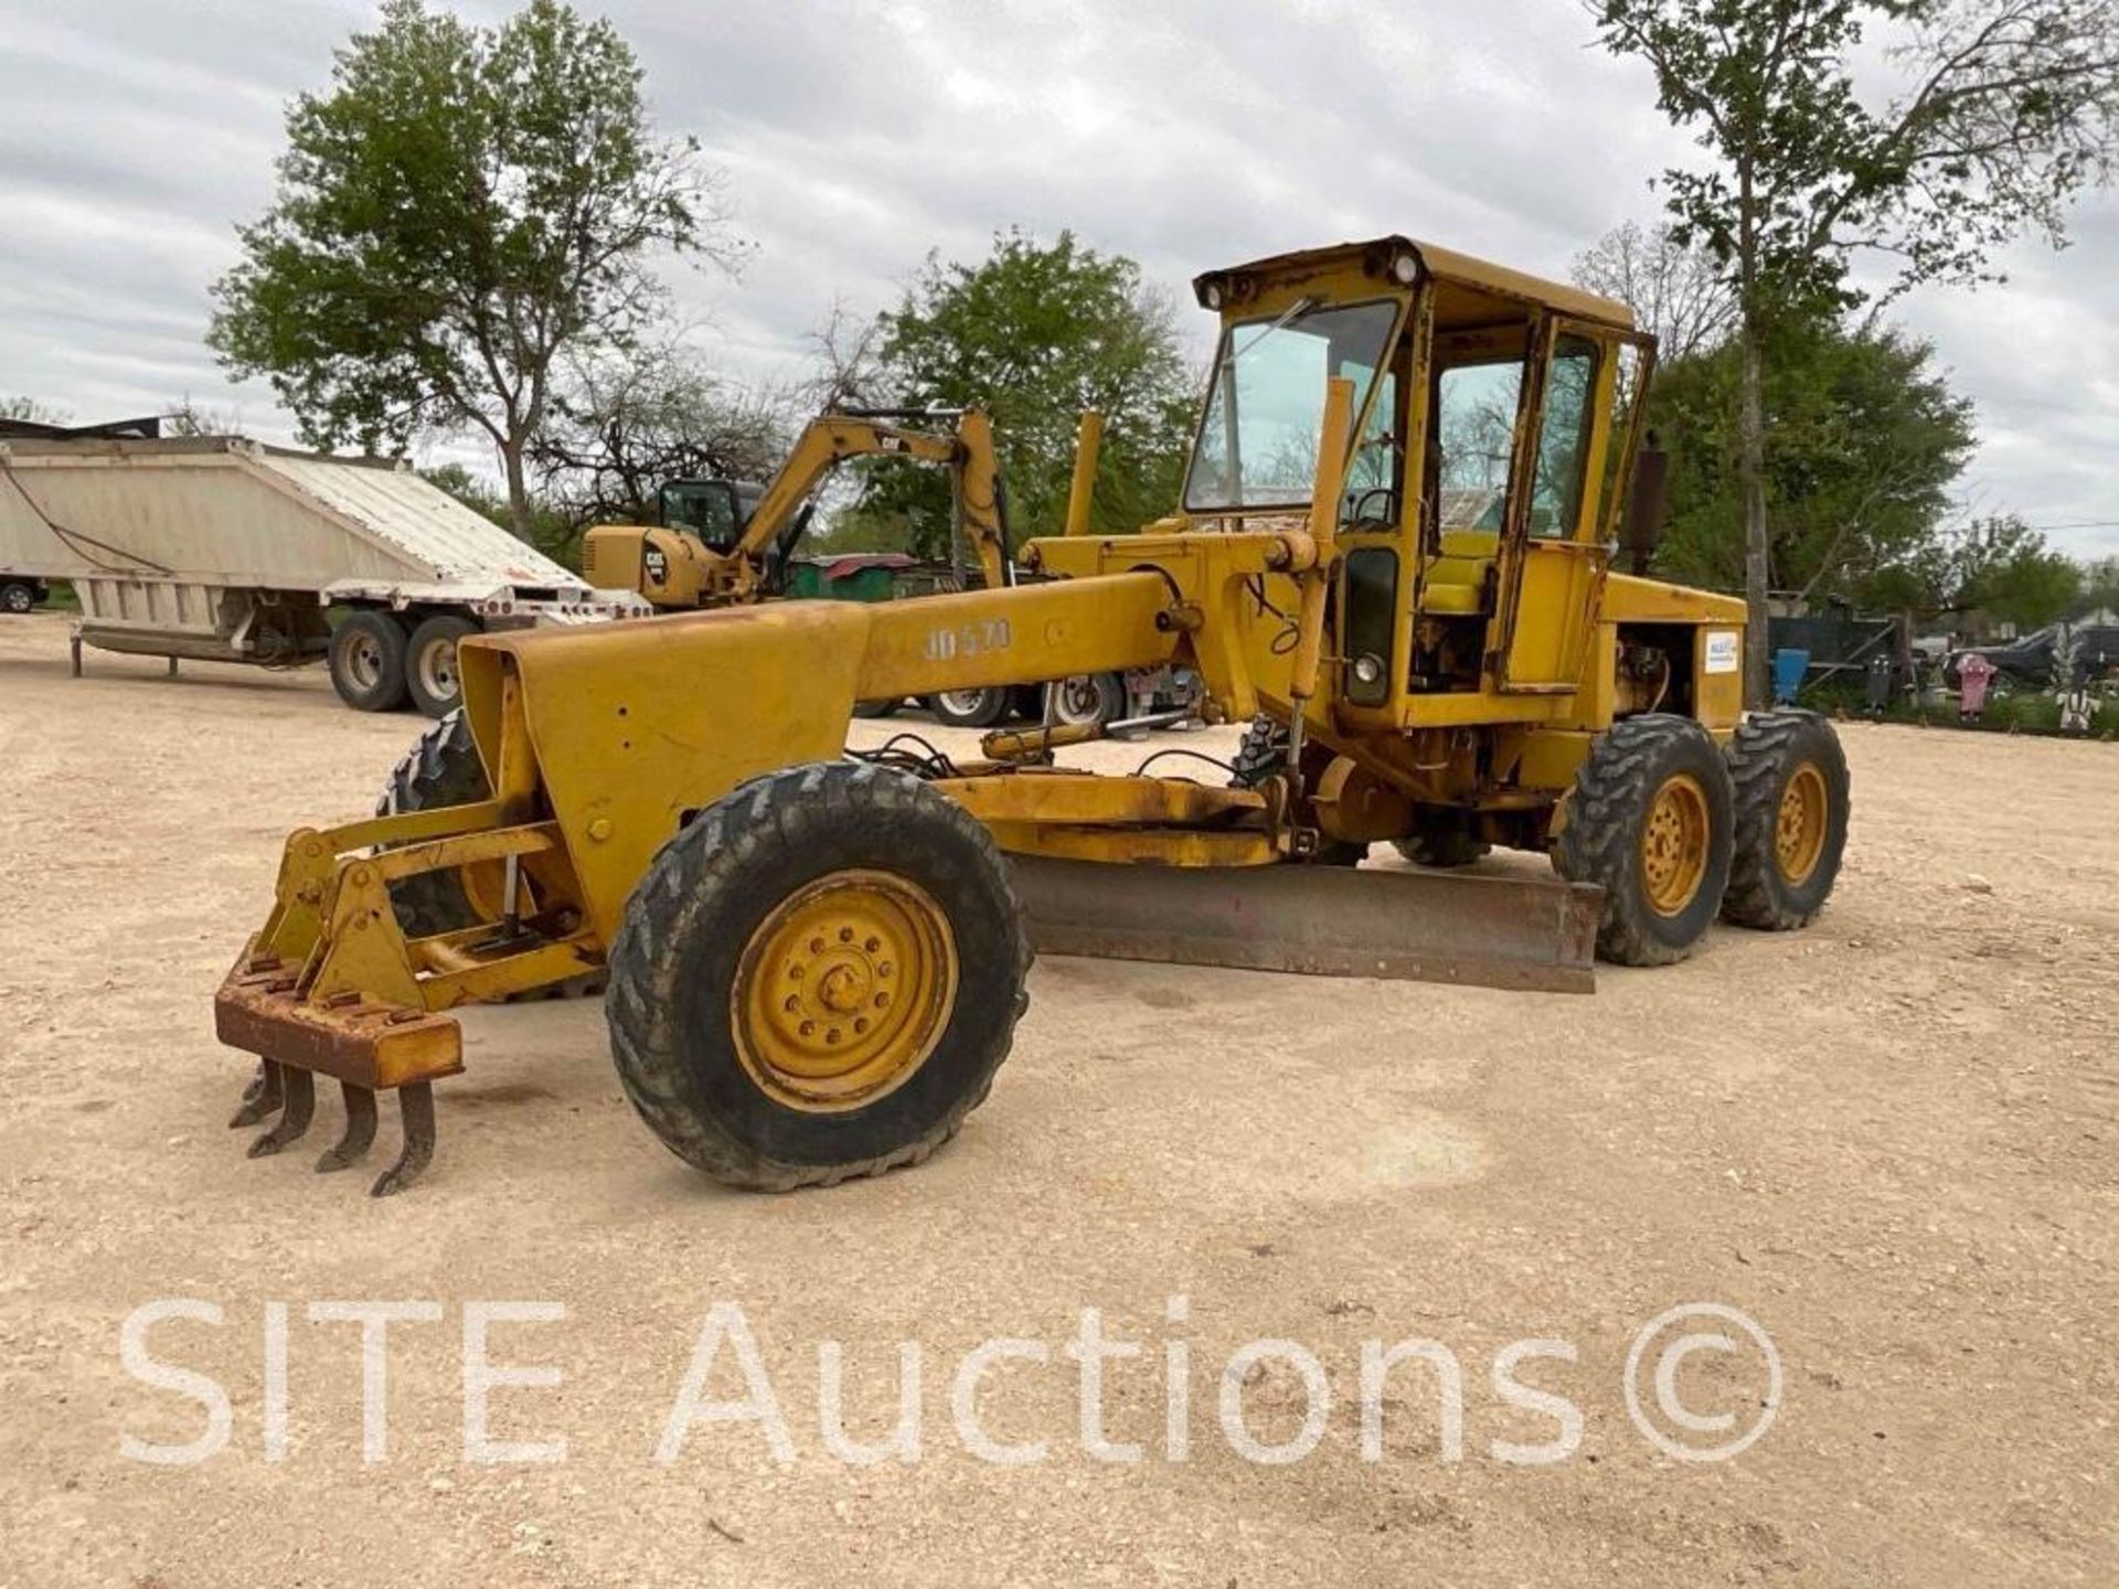
{"label": "pale tan gravelly dirt lot under the grader", "polygon": [[[2119,1581],[2119,746],[1850,727],[1824,920],[1716,932],[1596,998],[1047,960],[964,1136],[831,1193],[742,1197],[663,1153],[593,1002],[479,1011],[432,1176],[371,1201],[309,1172],[333,1100],[301,1150],[244,1159],[246,1066],[210,998],[282,835],[364,811],[420,722],[345,712],[320,676],[89,669],[66,678],[61,619],[0,625],[0,1585]],[[191,1466],[121,1453],[208,1428],[121,1362],[123,1320],[165,1297],[222,1309],[146,1337],[227,1388],[227,1447]],[[360,1331],[305,1316],[333,1299],[439,1305],[390,1328],[377,1462]],[[564,1462],[466,1458],[466,1305],[492,1301],[564,1307],[489,1347],[564,1373],[492,1392],[496,1439],[564,1439]],[[278,1453],[269,1303],[292,1311]],[[714,1303],[756,1343],[788,1462],[754,1422],[657,1462]],[[1678,1462],[1627,1413],[1627,1350],[1682,1303],[1778,1347],[1776,1417],[1733,1460]],[[1066,1343],[1091,1307],[1144,1343],[1102,1386],[1140,1462],[1079,1430]],[[973,1456],[954,1422],[987,1337],[1049,1352],[977,1403],[1040,1462]],[[1331,1396],[1280,1466],[1218,1407],[1259,1337],[1312,1352]],[[1363,1343],[1411,1337],[1462,1369],[1462,1453],[1407,1362],[1365,1460]],[[1496,1386],[1532,1337],[1577,1356]],[[1757,1426],[1755,1347],[1676,1362],[1668,1339],[1642,1364],[1738,1422],[1666,1415],[1666,1439]],[[920,1343],[915,1464],[833,1456],[820,1341],[862,1441]],[[737,1398],[720,1345],[704,1394]],[[1293,1360],[1235,1390],[1254,1443],[1297,1441]]]}

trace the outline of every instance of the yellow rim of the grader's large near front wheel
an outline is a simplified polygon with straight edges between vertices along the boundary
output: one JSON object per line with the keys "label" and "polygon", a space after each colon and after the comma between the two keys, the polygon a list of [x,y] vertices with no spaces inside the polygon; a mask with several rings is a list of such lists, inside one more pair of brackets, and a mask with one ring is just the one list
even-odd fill
{"label": "yellow rim of the grader's large near front wheel", "polygon": [[837,871],[780,900],[735,966],[731,1028],[750,1078],[812,1114],[901,1087],[956,1002],[956,934],[918,883]]}

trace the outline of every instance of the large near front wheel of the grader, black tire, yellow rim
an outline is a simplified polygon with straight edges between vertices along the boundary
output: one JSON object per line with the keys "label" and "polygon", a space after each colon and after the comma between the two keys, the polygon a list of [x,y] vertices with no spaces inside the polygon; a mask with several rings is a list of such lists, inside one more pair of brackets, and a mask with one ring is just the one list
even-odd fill
{"label": "large near front wheel of the grader, black tire, yellow rim", "polygon": [[790,1191],[956,1136],[1009,1053],[1028,970],[1007,864],[968,811],[907,773],[812,763],[663,845],[604,1013],[625,1095],[672,1153]]}

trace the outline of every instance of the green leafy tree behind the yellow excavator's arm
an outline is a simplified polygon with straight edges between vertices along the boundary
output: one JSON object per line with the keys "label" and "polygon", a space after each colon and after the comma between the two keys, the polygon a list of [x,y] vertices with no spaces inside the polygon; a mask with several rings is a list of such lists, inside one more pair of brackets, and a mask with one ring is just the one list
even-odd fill
{"label": "green leafy tree behind the yellow excavator's arm", "polygon": [[[1193,381],[1170,303],[1123,254],[1068,231],[1049,246],[996,235],[977,265],[930,254],[882,318],[875,358],[898,403],[994,417],[1017,536],[1060,530],[1083,409],[1104,415],[1091,525],[1123,534],[1176,506]],[[909,549],[932,555],[947,544],[947,481],[894,460],[865,464],[839,534],[873,544],[879,523],[903,525]]]}

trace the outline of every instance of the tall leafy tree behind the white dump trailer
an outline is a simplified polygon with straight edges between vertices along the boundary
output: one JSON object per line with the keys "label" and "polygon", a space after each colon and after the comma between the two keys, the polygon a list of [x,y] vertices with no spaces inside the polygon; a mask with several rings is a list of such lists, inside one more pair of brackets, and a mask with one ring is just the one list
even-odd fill
{"label": "tall leafy tree behind the white dump trailer", "polygon": [[716,180],[655,136],[640,81],[608,21],[557,0],[492,30],[386,0],[288,108],[273,206],[214,286],[229,375],[267,375],[316,447],[483,430],[528,534],[562,352],[655,320],[655,250],[731,258]]}

